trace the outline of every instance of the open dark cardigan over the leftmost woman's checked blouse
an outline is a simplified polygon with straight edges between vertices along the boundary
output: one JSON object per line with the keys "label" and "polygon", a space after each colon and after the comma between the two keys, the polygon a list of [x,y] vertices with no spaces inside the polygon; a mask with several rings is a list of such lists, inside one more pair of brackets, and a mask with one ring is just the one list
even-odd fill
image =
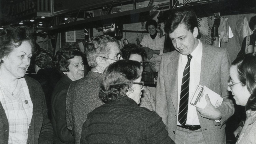
{"label": "open dark cardigan over the leftmost woman's checked blouse", "polygon": [[[25,76],[29,95],[33,103],[33,116],[28,129],[27,144],[53,144],[53,127],[47,116],[44,92],[33,78]],[[0,144],[8,144],[9,123],[0,103]]]}

